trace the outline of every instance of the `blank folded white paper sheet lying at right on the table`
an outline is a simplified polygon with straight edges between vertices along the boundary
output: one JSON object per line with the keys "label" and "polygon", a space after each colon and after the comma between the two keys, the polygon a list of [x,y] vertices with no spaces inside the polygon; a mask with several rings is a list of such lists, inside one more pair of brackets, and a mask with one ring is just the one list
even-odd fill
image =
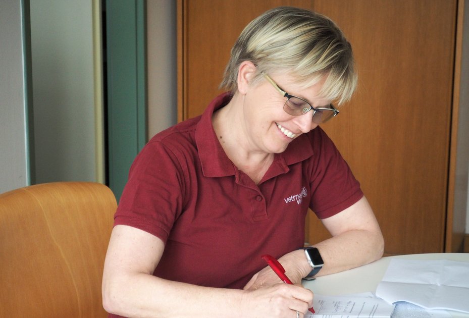
{"label": "blank folded white paper sheet lying at right on the table", "polygon": [[393,258],[376,295],[389,303],[469,312],[469,263]]}

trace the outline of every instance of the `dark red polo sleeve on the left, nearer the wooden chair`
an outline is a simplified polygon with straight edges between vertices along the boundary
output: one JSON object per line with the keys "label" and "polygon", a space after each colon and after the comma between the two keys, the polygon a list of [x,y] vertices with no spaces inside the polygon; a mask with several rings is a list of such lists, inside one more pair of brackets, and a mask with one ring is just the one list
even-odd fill
{"label": "dark red polo sleeve on the left, nearer the wooden chair", "polygon": [[161,142],[149,142],[129,172],[114,226],[128,225],[166,243],[183,206],[184,172],[174,153]]}

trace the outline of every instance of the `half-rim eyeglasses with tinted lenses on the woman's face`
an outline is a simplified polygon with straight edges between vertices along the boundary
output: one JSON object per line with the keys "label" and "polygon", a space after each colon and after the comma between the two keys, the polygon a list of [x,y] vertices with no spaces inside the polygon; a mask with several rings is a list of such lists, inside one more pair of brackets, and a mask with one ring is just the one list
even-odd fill
{"label": "half-rim eyeglasses with tinted lenses on the woman's face", "polygon": [[312,121],[316,124],[325,123],[339,114],[339,111],[332,104],[330,104],[329,107],[312,107],[312,105],[303,98],[290,95],[281,89],[280,86],[269,77],[269,75],[264,74],[264,76],[272,84],[272,86],[274,86],[283,95],[283,97],[287,98],[285,104],[283,105],[283,110],[287,114],[292,116],[301,116],[312,110]]}

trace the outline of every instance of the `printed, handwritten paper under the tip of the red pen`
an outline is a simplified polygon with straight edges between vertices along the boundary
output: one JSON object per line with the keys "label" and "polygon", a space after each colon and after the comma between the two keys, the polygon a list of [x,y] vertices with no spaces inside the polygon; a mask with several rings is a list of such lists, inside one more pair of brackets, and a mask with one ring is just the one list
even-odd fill
{"label": "printed, handwritten paper under the tip of the red pen", "polygon": [[308,313],[309,315],[305,315],[305,317],[389,318],[394,310],[394,305],[390,305],[383,299],[379,298],[340,297],[315,294],[314,308],[316,313]]}

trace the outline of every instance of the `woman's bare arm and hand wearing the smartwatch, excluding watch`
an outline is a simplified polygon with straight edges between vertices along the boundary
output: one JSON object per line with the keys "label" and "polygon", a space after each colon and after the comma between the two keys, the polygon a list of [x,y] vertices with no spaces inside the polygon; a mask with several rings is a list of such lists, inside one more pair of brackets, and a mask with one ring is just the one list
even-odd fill
{"label": "woman's bare arm and hand wearing the smartwatch, excluding watch", "polygon": [[[366,197],[363,196],[350,207],[322,222],[332,238],[314,245],[324,261],[317,276],[362,266],[383,255],[383,235]],[[290,252],[279,261],[295,284],[301,284],[301,279],[311,271],[302,250]],[[257,289],[275,283],[278,283],[278,277],[272,270],[265,268],[255,274],[244,288]]]}

